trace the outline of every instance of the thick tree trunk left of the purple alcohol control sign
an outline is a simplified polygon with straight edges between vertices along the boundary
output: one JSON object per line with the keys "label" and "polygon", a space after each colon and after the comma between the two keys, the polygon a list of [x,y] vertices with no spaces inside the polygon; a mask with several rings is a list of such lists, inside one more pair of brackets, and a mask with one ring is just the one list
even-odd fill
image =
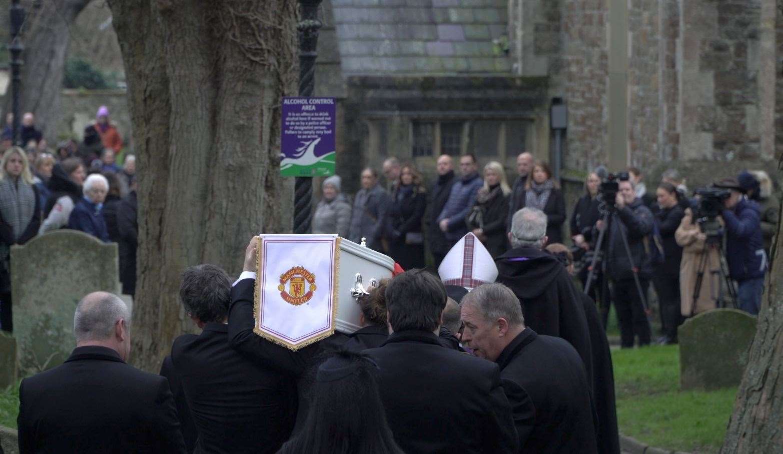
{"label": "thick tree trunk left of the purple alcohol control sign", "polygon": [[109,0],[139,168],[132,362],[157,372],[192,322],[179,274],[241,271],[258,232],[290,231],[280,98],[296,89],[290,0]]}

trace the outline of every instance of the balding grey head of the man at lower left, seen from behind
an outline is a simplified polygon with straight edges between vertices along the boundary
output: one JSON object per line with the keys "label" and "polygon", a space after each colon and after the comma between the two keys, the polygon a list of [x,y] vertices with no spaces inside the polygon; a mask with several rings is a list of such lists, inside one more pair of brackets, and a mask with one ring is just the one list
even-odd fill
{"label": "balding grey head of the man at lower left, seen from behind", "polygon": [[[74,314],[77,344],[112,342],[119,329],[128,330],[128,306],[115,294],[94,292],[81,298]],[[108,347],[108,345],[106,345]]]}

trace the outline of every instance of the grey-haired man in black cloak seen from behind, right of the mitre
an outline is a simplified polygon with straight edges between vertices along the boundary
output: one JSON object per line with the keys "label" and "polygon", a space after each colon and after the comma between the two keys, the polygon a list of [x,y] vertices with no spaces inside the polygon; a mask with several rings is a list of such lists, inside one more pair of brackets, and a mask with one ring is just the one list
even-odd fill
{"label": "grey-haired man in black cloak seen from behind, right of the mitre", "polygon": [[514,214],[508,234],[512,249],[495,261],[496,282],[517,295],[527,326],[572,344],[592,376],[590,333],[582,301],[560,261],[541,250],[547,243],[546,232],[543,211],[523,208]]}

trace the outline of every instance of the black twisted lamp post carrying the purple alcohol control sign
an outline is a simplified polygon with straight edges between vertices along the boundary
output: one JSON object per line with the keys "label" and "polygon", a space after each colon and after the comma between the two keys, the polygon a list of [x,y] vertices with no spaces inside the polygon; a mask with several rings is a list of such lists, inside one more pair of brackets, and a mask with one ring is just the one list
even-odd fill
{"label": "black twisted lamp post carrying the purple alcohol control sign", "polygon": [[[321,0],[299,0],[301,22],[299,32],[299,95],[312,96],[316,86],[318,52],[318,7]],[[309,233],[312,214],[312,177],[297,177],[294,182],[294,233]]]}

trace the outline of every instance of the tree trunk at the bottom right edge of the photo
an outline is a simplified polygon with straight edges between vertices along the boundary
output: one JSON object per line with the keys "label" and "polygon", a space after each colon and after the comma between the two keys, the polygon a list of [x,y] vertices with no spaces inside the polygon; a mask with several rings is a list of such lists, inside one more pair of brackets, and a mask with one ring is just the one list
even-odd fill
{"label": "tree trunk at the bottom right edge of the photo", "polygon": [[[778,178],[783,157],[778,157]],[[783,452],[783,254],[781,222],[748,366],[734,401],[722,454]]]}

